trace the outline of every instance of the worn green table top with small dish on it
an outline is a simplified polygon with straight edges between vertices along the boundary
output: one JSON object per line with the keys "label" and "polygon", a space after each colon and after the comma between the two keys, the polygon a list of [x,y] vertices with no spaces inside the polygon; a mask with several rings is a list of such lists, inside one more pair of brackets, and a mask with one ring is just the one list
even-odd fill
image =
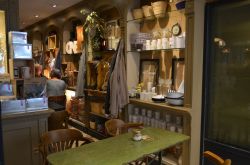
{"label": "worn green table top with small dish on it", "polygon": [[157,128],[144,128],[152,140],[132,140],[132,133],[50,154],[52,165],[121,165],[186,141],[189,136]]}

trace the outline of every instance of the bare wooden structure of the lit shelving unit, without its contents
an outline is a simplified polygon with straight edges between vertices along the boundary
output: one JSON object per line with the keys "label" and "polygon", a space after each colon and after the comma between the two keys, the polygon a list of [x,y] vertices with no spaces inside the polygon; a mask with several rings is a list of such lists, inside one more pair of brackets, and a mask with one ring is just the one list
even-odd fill
{"label": "bare wooden structure of the lit shelving unit, without its contents", "polygon": [[[128,87],[134,88],[139,83],[140,73],[140,61],[141,60],[159,60],[159,77],[163,80],[172,79],[173,80],[173,72],[172,69],[175,70],[176,73],[178,71],[178,82],[173,81],[172,83],[175,88],[180,86],[180,82],[185,82],[185,90],[184,90],[184,106],[172,106],[167,103],[157,103],[153,101],[143,101],[140,99],[130,98],[130,102],[128,105],[128,113],[126,115],[131,117],[130,115],[135,115],[134,108],[139,108],[139,115],[141,109],[146,109],[146,111],[158,111],[161,114],[161,120],[165,120],[165,114],[171,115],[171,117],[181,116],[183,119],[182,128],[183,133],[186,135],[191,134],[191,103],[192,103],[192,54],[193,54],[193,3],[192,1],[186,2],[186,8],[182,10],[177,10],[175,6],[175,2],[169,2],[167,7],[167,12],[164,15],[156,15],[152,17],[144,17],[142,19],[133,19],[132,10],[141,8],[143,5],[149,5],[150,2],[153,1],[133,1],[128,5],[128,13],[127,13],[127,61],[129,62],[129,67],[127,67],[128,74]],[[170,32],[175,24],[179,24],[181,27],[181,31],[185,32],[185,48],[168,48],[168,49],[156,49],[156,50],[136,50],[136,45],[133,43],[133,38],[130,40],[130,36],[132,34],[138,33],[152,33],[158,31],[159,33],[163,33],[163,30],[168,29]],[[157,36],[158,38],[162,38],[162,36]],[[158,39],[158,38],[154,39]],[[172,33],[170,32],[167,38],[172,37]],[[176,36],[175,36],[176,37]],[[176,46],[176,45],[175,45]],[[175,47],[173,46],[173,47]],[[176,46],[177,47],[177,46]],[[183,46],[178,46],[183,47]],[[173,59],[182,58],[185,59],[178,67],[173,65]],[[181,67],[180,67],[181,66]],[[185,68],[185,69],[184,69]],[[177,80],[177,78],[175,79]],[[181,81],[179,81],[181,80]],[[158,83],[158,82],[157,82]],[[177,88],[178,89],[178,88]],[[153,112],[154,113],[154,112]],[[133,116],[132,116],[133,117]],[[131,120],[131,119],[130,119]],[[171,121],[169,124],[173,124]],[[166,129],[166,128],[165,128]],[[182,150],[182,164],[189,165],[189,142],[183,143]],[[178,164],[178,160],[175,160],[176,164]]]}

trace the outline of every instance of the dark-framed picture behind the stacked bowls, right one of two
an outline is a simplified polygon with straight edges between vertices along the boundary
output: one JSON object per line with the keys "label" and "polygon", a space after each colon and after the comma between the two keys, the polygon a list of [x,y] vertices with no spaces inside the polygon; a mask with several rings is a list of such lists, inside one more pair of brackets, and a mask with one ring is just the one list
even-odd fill
{"label": "dark-framed picture behind the stacked bowls, right one of two", "polygon": [[184,80],[185,62],[184,58],[173,58],[172,59],[172,86],[175,90],[178,90],[181,82]]}

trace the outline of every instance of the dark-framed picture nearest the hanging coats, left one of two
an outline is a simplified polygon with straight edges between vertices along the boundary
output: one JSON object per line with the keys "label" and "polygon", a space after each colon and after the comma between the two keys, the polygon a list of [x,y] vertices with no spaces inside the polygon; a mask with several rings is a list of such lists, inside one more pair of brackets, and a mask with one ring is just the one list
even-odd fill
{"label": "dark-framed picture nearest the hanging coats, left one of two", "polygon": [[148,82],[156,86],[159,79],[159,59],[140,60],[139,81],[143,83],[143,89],[147,89]]}

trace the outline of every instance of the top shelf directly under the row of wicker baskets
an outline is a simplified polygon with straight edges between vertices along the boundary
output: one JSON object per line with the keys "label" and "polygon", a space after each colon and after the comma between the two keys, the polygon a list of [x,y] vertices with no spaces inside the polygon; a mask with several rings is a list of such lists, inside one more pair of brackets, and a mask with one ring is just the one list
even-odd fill
{"label": "top shelf directly under the row of wicker baskets", "polygon": [[157,19],[168,18],[169,14],[174,13],[174,12],[185,12],[185,9],[167,11],[166,13],[157,14],[157,15],[153,15],[153,16],[150,16],[150,17],[143,17],[143,18],[139,18],[139,19],[131,19],[131,20],[127,20],[127,23],[130,23],[130,22],[142,23],[144,21],[155,21]]}

